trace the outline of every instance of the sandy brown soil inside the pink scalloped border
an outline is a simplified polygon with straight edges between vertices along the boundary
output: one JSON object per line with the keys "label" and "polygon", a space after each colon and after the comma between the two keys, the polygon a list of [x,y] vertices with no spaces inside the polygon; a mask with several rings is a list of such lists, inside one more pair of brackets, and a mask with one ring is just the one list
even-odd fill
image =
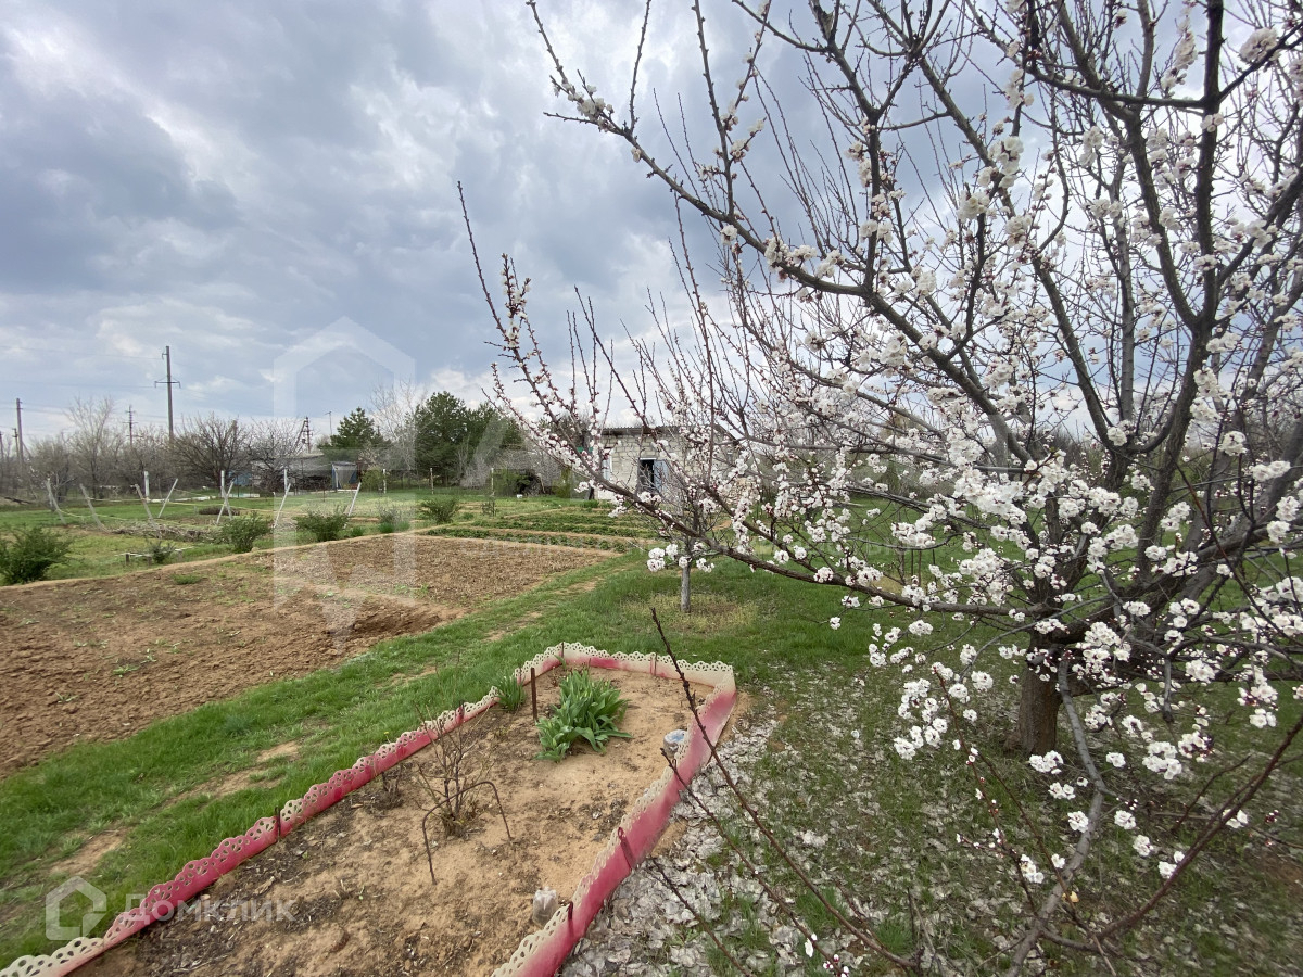
{"label": "sandy brown soil inside the pink scalloped border", "polygon": [[[622,726],[632,739],[612,740],[603,756],[536,759],[528,700],[513,715],[494,707],[465,726],[466,769],[498,788],[512,840],[493,792],[477,789],[481,810],[464,838],[446,838],[430,818],[431,881],[421,821],[434,800],[416,767],[442,783],[434,744],[219,879],[198,908],[192,903],[83,972],[491,973],[536,929],[536,890],[555,888],[566,912],[614,827],[665,770],[665,733],[691,722],[678,683],[594,671],[631,703]],[[559,672],[538,680],[541,710],[558,700]]]}

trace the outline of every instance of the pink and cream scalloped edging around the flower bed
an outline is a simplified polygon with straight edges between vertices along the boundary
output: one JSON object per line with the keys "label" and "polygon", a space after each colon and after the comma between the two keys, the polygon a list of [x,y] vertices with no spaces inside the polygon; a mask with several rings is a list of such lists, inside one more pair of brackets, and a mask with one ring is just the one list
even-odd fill
{"label": "pink and cream scalloped edging around the flower bed", "polygon": [[[646,672],[658,679],[679,677],[667,658],[610,654],[584,645],[564,644],[549,649],[517,668],[516,681],[520,684],[528,681],[530,668],[537,675],[543,675],[560,664],[589,664],[597,668]],[[714,741],[723,731],[736,702],[732,668],[721,663],[694,663],[683,667],[692,681],[714,687],[705,703],[698,706],[706,732]],[[296,827],[370,783],[378,774],[427,746],[434,740],[433,729],[453,729],[474,719],[496,701],[496,697],[486,696],[474,705],[444,713],[438,720],[403,733],[394,743],[387,743],[375,753],[362,757],[348,770],[336,771],[326,783],[314,784],[301,799],[285,804],[275,817],[259,818],[242,835],[225,839],[206,858],[186,862],[176,878],[150,888],[139,907],[119,914],[104,937],[79,937],[47,956],[20,956],[0,970],[0,977],[63,977],[72,973],[155,920],[171,917],[177,903],[194,898]],[[687,744],[679,754],[678,770],[681,778],[691,780],[709,754],[701,731],[691,728]],[[556,972],[616,886],[652,851],[670,821],[670,812],[679,800],[680,789],[674,771],[667,767],[615,828],[593,868],[580,879],[571,901],[542,930],[526,937],[508,963],[495,970],[495,977],[550,977]]]}

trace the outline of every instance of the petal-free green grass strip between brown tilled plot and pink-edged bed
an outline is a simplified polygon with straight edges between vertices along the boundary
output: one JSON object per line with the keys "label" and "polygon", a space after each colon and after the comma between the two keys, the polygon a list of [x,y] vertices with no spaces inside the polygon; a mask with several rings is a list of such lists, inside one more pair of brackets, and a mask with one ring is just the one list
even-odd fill
{"label": "petal-free green grass strip between brown tilled plot and pink-edged bed", "polygon": [[[126,892],[169,878],[184,862],[207,855],[222,838],[248,828],[291,797],[358,756],[417,726],[417,709],[437,713],[480,698],[504,670],[559,641],[611,651],[657,651],[653,602],[668,619],[678,649],[689,658],[726,659],[744,679],[773,676],[797,660],[851,654],[848,634],[829,632],[813,598],[794,606],[782,581],[767,597],[740,572],[701,578],[701,611],[681,619],[671,610],[678,581],[652,577],[641,558],[576,571],[534,591],[442,627],[422,637],[374,647],[336,671],[262,687],[163,720],[129,740],[86,744],[0,783],[0,959],[48,948],[40,935],[44,866],[65,857],[93,832],[126,831],[125,843],[89,877],[121,904]],[[575,585],[597,580],[592,591]],[[791,591],[791,593],[788,593]],[[807,597],[808,595],[808,597]],[[523,620],[528,619],[528,620]],[[782,620],[784,636],[774,644]],[[433,675],[431,667],[439,671]],[[298,744],[298,757],[255,787],[208,800],[177,795],[255,766],[259,752]]]}

